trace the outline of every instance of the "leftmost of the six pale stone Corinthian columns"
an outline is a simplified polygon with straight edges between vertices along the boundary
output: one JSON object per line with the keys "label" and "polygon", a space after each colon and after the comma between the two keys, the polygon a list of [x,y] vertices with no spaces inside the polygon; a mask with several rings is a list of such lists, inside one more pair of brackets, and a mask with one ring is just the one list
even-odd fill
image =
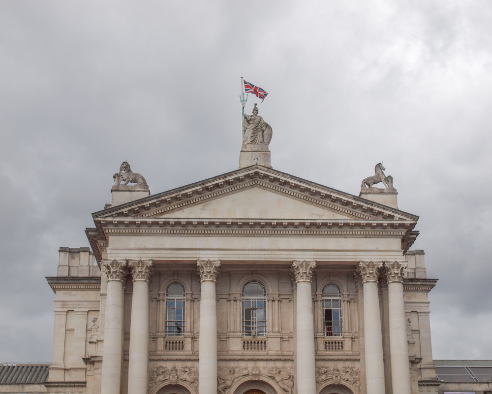
{"label": "leftmost of the six pale stone Corinthian columns", "polygon": [[123,350],[123,282],[127,274],[126,260],[103,260],[108,277],[104,350],[102,353],[101,393],[120,394]]}

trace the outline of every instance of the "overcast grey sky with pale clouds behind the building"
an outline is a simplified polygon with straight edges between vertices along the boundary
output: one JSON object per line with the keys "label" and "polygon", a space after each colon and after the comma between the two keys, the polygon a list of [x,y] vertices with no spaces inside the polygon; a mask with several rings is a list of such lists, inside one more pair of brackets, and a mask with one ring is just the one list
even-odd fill
{"label": "overcast grey sky with pale clouds behind the building", "polygon": [[490,1],[0,1],[0,362],[51,361],[44,277],[124,160],[153,194],[238,168],[242,76],[275,169],[357,195],[384,160],[434,359],[492,359],[491,50]]}

